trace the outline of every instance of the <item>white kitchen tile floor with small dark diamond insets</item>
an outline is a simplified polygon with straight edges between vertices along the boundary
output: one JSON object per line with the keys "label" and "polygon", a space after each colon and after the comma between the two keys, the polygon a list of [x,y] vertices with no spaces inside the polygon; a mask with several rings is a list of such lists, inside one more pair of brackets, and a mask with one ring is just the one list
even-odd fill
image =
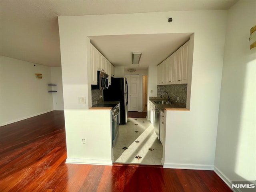
{"label": "white kitchen tile floor with small dark diamond insets", "polygon": [[146,118],[128,118],[126,125],[119,125],[114,163],[162,165],[162,153],[163,146]]}

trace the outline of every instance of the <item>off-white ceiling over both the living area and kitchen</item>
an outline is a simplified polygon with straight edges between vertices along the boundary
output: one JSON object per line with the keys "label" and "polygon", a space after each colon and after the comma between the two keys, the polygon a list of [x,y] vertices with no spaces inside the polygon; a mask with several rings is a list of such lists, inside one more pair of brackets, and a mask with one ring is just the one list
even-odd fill
{"label": "off-white ceiling over both the living area and kitchen", "polygon": [[[236,2],[234,0],[1,0],[1,55],[45,66],[61,66],[58,16],[228,10]],[[189,35],[145,34],[90,38],[94,46],[115,66],[130,68],[131,52],[142,51],[140,69],[144,69],[148,64],[159,64],[184,44]]]}

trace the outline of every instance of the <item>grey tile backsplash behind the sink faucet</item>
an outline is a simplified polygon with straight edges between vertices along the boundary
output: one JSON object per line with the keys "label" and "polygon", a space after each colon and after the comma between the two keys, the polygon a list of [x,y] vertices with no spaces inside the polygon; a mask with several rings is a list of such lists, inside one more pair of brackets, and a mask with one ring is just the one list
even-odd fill
{"label": "grey tile backsplash behind the sink faucet", "polygon": [[[180,97],[180,100],[178,100],[178,102],[186,105],[187,89],[188,89],[188,84],[158,85],[157,96],[160,97],[161,93],[163,91],[166,91],[168,92],[170,99],[176,101],[177,97]],[[164,97],[166,97],[166,94],[164,94]]]}

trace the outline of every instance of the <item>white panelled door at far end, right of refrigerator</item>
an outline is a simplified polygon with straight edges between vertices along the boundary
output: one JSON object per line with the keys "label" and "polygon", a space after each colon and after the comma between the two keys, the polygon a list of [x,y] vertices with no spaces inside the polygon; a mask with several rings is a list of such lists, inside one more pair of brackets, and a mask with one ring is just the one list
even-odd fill
{"label": "white panelled door at far end, right of refrigerator", "polygon": [[128,111],[139,110],[139,75],[127,75]]}

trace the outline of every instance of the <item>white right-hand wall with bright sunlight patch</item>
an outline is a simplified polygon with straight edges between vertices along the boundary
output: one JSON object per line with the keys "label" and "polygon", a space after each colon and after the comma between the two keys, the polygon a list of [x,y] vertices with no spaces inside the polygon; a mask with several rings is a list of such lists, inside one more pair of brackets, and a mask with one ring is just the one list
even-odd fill
{"label": "white right-hand wall with bright sunlight patch", "polygon": [[256,1],[228,10],[215,170],[232,180],[256,180],[256,48],[249,49]]}

